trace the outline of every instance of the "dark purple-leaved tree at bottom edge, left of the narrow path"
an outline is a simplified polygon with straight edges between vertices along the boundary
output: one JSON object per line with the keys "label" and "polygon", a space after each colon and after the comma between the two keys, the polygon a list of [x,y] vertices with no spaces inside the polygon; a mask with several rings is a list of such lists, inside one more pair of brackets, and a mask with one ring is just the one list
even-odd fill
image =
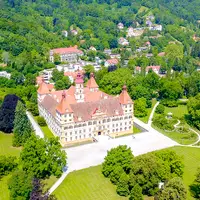
{"label": "dark purple-leaved tree at bottom edge, left of the narrow path", "polygon": [[49,195],[47,191],[44,191],[44,184],[41,183],[40,179],[33,179],[33,190],[30,194],[30,200],[56,200],[56,197]]}

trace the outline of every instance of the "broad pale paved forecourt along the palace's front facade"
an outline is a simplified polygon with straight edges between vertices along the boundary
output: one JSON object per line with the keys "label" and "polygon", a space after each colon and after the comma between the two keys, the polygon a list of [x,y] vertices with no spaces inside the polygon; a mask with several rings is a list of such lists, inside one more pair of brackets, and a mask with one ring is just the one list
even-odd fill
{"label": "broad pale paved forecourt along the palace's front facade", "polygon": [[131,147],[135,156],[178,145],[153,128],[148,127],[148,129],[148,132],[136,134],[135,138],[126,136],[108,139],[106,136],[99,136],[101,138],[97,143],[65,149],[69,166],[68,172],[101,164],[107,155],[107,151],[118,145]]}

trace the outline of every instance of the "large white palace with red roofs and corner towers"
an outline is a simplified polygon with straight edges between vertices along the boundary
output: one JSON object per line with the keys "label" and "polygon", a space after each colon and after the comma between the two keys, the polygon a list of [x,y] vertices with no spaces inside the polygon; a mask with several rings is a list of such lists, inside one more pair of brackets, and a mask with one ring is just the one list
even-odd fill
{"label": "large white palace with red roofs and corner towers", "polygon": [[132,133],[133,101],[126,86],[118,96],[99,90],[94,74],[84,87],[78,73],[75,86],[68,90],[50,90],[44,81],[38,88],[38,109],[48,127],[62,145],[94,140],[96,136]]}

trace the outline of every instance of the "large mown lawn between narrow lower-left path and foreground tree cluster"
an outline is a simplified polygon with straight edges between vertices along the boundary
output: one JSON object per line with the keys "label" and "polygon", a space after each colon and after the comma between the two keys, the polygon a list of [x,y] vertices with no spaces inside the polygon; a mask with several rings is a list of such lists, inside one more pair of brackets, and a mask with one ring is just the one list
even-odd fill
{"label": "large mown lawn between narrow lower-left path and foreground tree cluster", "polygon": [[56,189],[58,200],[128,200],[116,193],[116,187],[101,173],[101,166],[70,173]]}

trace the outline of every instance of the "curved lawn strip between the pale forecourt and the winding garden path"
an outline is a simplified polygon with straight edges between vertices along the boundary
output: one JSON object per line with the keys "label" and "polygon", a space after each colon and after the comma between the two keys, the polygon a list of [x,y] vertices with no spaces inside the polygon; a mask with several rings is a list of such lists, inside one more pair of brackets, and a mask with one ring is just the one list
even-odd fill
{"label": "curved lawn strip between the pale forecourt and the winding garden path", "polygon": [[184,144],[184,145],[193,144],[198,139],[197,135],[191,131],[186,133],[179,133],[176,131],[166,132],[154,125],[152,125],[152,127],[161,132],[162,134],[166,135],[167,137],[171,138],[172,140],[178,142],[179,144]]}

